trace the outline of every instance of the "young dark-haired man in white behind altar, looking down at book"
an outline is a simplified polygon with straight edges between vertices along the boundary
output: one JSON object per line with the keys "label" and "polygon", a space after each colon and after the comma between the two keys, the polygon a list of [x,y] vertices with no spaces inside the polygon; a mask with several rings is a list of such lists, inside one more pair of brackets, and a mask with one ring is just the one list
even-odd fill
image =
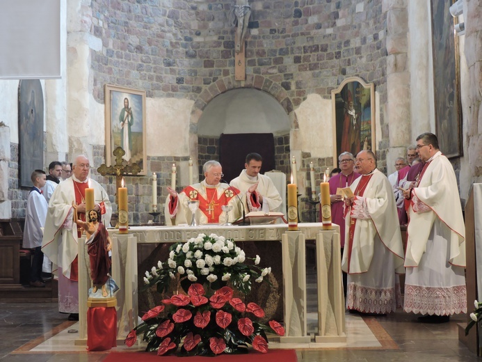
{"label": "young dark-haired man in white behind altar, looking down at book", "polygon": [[239,189],[241,194],[245,194],[246,197],[243,200],[245,200],[246,212],[279,211],[283,201],[271,178],[259,173],[262,163],[263,158],[259,153],[248,154],[244,164],[245,169],[230,182],[231,186]]}

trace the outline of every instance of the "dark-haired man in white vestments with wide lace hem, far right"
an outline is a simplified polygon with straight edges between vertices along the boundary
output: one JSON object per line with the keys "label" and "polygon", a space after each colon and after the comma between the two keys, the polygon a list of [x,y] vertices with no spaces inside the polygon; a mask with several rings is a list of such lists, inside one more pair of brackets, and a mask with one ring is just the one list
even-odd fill
{"label": "dark-haired man in white vestments with wide lace hem, far right", "polygon": [[438,147],[437,136],[417,137],[417,152],[426,162],[410,199],[405,267],[405,312],[420,322],[448,322],[467,312],[465,226],[456,175]]}

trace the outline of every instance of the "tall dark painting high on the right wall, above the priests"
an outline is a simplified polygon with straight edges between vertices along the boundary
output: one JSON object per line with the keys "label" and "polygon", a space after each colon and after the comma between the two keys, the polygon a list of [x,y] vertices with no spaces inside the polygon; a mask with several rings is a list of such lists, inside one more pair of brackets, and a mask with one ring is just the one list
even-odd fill
{"label": "tall dark painting high on the right wall, above the priests", "polygon": [[431,1],[435,134],[449,158],[463,155],[458,36],[453,31],[457,20],[449,12],[451,5]]}

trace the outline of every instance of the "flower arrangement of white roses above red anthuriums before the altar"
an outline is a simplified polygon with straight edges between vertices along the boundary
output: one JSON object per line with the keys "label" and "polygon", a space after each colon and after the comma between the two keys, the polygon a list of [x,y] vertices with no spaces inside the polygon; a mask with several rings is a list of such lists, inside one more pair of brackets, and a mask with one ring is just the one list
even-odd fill
{"label": "flower arrangement of white roses above red anthuriums before the altar", "polygon": [[[246,260],[253,260],[253,265],[245,264]],[[168,261],[146,272],[144,288],[156,285],[163,293],[179,278],[187,294],[163,299],[145,313],[143,323],[127,336],[126,345],[131,347],[143,334],[146,351],[157,350],[159,355],[175,353],[181,344],[178,356],[247,353],[248,344],[266,353],[266,332],[284,336],[284,328],[275,320],[268,325],[253,320],[264,317],[264,310],[255,303],[246,305],[234,291],[246,294],[253,280],[262,283],[271,273],[271,268],[258,267],[259,261],[258,255],[247,258],[232,239],[215,234],[173,244]]]}

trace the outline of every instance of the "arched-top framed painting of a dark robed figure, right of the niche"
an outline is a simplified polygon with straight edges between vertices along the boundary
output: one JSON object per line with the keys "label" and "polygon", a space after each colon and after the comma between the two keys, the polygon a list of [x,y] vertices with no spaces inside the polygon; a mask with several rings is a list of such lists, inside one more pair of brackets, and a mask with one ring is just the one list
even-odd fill
{"label": "arched-top framed painting of a dark robed figure, right of the niche", "polygon": [[333,164],[342,152],[375,152],[375,85],[349,77],[331,91]]}

